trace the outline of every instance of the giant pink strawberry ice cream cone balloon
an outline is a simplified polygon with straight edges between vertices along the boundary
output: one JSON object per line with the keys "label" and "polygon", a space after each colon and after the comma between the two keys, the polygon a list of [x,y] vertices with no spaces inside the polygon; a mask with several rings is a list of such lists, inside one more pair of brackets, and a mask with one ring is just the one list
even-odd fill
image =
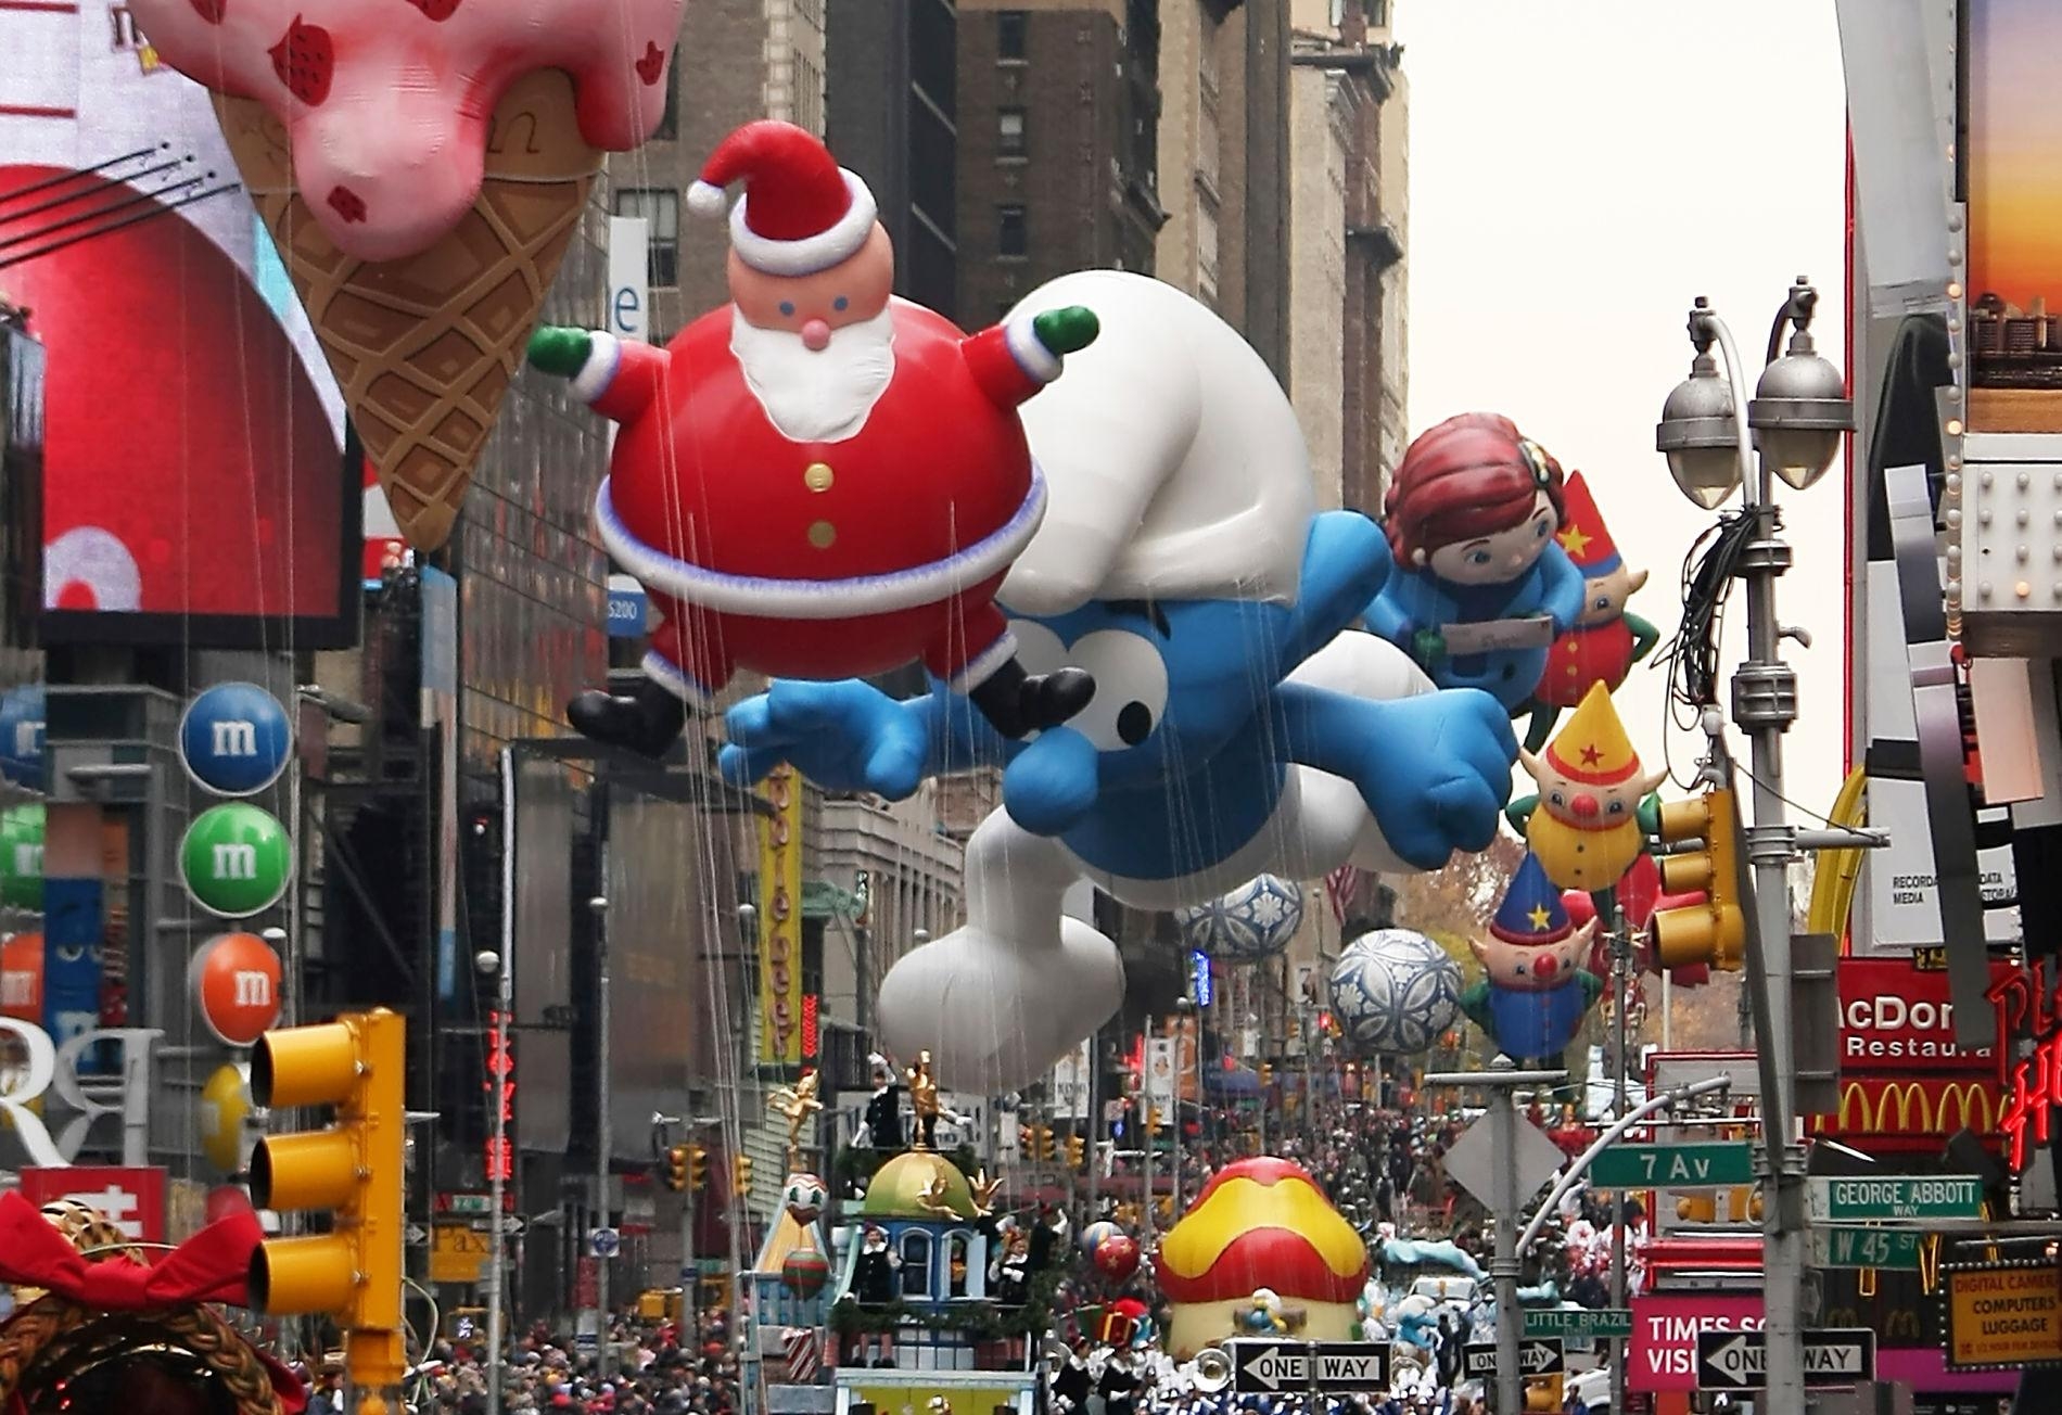
{"label": "giant pink strawberry ice cream cone balloon", "polygon": [[602,149],[685,0],[136,0],[223,136],[414,545],[452,532]]}

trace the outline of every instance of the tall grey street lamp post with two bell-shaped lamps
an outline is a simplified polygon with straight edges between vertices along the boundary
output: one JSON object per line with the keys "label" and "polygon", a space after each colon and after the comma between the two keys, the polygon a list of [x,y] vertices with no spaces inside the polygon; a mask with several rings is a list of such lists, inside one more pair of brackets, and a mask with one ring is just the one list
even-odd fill
{"label": "tall grey street lamp post with two bell-shaped lamps", "polygon": [[[1732,679],[1732,720],[1747,732],[1753,763],[1755,823],[1747,829],[1755,910],[1749,926],[1749,988],[1761,1058],[1763,1132],[1763,1264],[1767,1273],[1767,1403],[1804,1411],[1804,1149],[1796,1143],[1796,1040],[1792,1035],[1788,866],[1796,829],[1784,817],[1784,732],[1796,720],[1796,672],[1782,660],[1782,639],[1800,637],[1775,619],[1775,578],[1792,561],[1782,540],[1782,509],[1773,479],[1802,491],[1833,464],[1841,433],[1854,427],[1854,404],[1831,363],[1812,347],[1810,318],[1819,293],[1798,276],[1769,330],[1769,351],[1753,402],[1740,398],[1744,377],[1732,332],[1697,299],[1689,336],[1697,355],[1689,377],[1668,394],[1656,427],[1656,448],[1683,493],[1716,512],[1742,493],[1749,520],[1732,573],[1747,582],[1747,660]],[[1788,351],[1777,357],[1784,328]],[[1711,347],[1726,359],[1724,375]],[[1755,458],[1759,452],[1759,462]],[[1703,703],[1714,763],[1728,771],[1716,703]]]}

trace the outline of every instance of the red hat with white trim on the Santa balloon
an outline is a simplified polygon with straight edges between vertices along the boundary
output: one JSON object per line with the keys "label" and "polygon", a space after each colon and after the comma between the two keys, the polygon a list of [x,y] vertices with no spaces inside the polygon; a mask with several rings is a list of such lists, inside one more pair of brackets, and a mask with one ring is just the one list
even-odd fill
{"label": "red hat with white trim on the Santa balloon", "polygon": [[732,182],[744,196],[730,208],[730,245],[753,270],[829,270],[872,235],[874,194],[806,128],[767,118],[732,132],[687,190],[687,208],[720,217]]}

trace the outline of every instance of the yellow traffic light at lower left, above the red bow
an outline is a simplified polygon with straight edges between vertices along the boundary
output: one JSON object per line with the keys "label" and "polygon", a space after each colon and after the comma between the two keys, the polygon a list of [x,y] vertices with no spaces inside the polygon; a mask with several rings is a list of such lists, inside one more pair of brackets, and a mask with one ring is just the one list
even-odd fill
{"label": "yellow traffic light at lower left, above the red bow", "polygon": [[328,1233],[260,1244],[250,1304],[268,1316],[330,1314],[344,1328],[351,1384],[365,1392],[361,1411],[386,1409],[377,1392],[398,1388],[408,1365],[400,1310],[406,1064],[406,1023],[384,1007],[268,1031],[252,1050],[254,1104],[336,1108],[328,1130],[258,1141],[252,1203],[336,1217]]}

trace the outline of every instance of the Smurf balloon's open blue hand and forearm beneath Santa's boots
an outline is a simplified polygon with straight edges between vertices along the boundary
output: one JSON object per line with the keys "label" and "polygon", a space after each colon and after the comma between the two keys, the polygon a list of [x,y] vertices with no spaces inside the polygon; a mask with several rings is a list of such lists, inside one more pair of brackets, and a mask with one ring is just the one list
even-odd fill
{"label": "Smurf balloon's open blue hand and forearm beneath Santa's boots", "polygon": [[825,790],[916,794],[930,755],[930,697],[899,703],[870,683],[775,679],[724,714],[718,769],[749,786],[781,761]]}

